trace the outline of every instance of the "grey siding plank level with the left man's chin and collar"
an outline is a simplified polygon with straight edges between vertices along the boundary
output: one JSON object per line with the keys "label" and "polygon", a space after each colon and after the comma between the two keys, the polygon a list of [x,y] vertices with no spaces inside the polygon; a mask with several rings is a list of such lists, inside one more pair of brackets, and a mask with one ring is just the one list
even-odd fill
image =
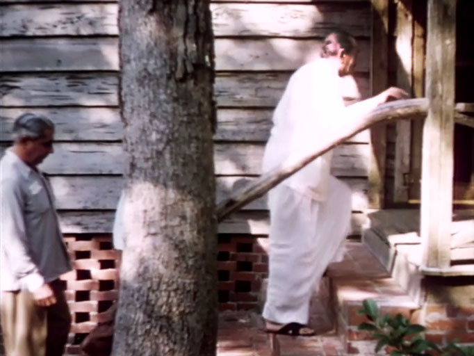
{"label": "grey siding plank level with the left man's chin and collar", "polygon": [[[2,147],[0,154],[5,147]],[[260,175],[263,144],[218,143],[214,145],[216,175]],[[332,174],[366,177],[366,144],[341,145],[334,149]],[[49,175],[121,175],[124,154],[120,143],[56,143],[40,165]]]}

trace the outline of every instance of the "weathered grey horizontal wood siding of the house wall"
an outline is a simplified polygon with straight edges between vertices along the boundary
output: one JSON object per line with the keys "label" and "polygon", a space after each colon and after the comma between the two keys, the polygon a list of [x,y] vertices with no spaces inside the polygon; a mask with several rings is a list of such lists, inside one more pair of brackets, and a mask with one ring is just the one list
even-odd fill
{"label": "weathered grey horizontal wood siding of the house wall", "polygon": [[[316,58],[328,29],[341,26],[360,45],[356,79],[369,92],[370,1],[219,1],[215,31],[218,199],[261,174],[272,109],[291,73]],[[117,3],[0,0],[1,150],[26,111],[57,124],[51,175],[63,230],[111,232],[122,186],[118,110]],[[332,172],[352,188],[352,234],[367,207],[366,132],[336,149]],[[268,233],[265,198],[219,227],[221,233]]]}

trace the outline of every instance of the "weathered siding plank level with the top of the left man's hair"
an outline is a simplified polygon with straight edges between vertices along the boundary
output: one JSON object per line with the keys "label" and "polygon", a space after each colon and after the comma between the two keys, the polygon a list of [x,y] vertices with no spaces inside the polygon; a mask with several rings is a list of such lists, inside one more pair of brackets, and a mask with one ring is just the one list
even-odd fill
{"label": "weathered siding plank level with the top of the left man's hair", "polygon": [[[59,141],[122,140],[123,126],[118,108],[3,108],[0,113],[0,141],[11,140],[15,118],[26,111],[47,115],[56,124]],[[218,108],[215,140],[266,142],[272,127],[271,109]],[[368,143],[368,131],[350,138],[351,143]]]}

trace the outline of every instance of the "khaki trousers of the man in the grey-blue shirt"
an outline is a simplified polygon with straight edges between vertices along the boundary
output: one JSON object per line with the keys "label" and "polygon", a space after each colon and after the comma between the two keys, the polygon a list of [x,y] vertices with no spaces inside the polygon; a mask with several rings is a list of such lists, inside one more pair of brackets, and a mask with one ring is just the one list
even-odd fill
{"label": "khaki trousers of the man in the grey-blue shirt", "polygon": [[56,304],[38,307],[29,291],[3,291],[1,329],[6,356],[61,356],[71,327],[64,289],[50,283]]}

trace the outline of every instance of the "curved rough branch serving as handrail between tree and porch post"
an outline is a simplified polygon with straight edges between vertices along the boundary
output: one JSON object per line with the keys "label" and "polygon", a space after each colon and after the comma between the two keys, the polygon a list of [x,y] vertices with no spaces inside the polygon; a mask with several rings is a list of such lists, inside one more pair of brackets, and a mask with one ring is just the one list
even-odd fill
{"label": "curved rough branch serving as handrail between tree and porch post", "polygon": [[341,131],[334,133],[334,135],[327,135],[325,141],[319,143],[318,149],[308,156],[300,157],[300,159],[287,160],[282,162],[280,165],[265,172],[258,180],[254,181],[249,186],[236,191],[227,199],[218,203],[217,216],[218,221],[224,220],[234,211],[243,207],[245,204],[252,202],[258,197],[270,191],[271,188],[284,181],[286,178],[293,175],[293,173],[302,169],[305,165],[311,163],[322,154],[325,154],[329,149],[334,148],[336,145],[343,143],[345,140],[354,136],[356,133],[368,129],[377,122],[383,120],[395,120],[395,119],[422,119],[426,117],[427,113],[427,99],[406,99],[398,100],[396,102],[390,102],[382,104],[373,110],[365,118],[361,120],[355,120],[351,124],[341,128]]}

